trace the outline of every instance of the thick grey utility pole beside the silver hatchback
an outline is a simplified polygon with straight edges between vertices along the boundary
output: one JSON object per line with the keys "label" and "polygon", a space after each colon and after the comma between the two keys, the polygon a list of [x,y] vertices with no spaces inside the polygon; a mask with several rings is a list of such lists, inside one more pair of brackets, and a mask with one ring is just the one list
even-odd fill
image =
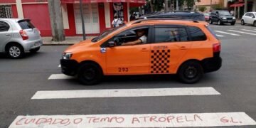
{"label": "thick grey utility pole beside the silver hatchback", "polygon": [[48,0],[50,26],[53,35],[52,41],[65,41],[63,15],[60,0]]}

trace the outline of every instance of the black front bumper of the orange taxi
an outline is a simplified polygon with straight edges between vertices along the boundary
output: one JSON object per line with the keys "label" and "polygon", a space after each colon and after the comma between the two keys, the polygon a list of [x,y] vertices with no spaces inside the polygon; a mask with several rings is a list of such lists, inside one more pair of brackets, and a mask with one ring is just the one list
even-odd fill
{"label": "black front bumper of the orange taxi", "polygon": [[76,60],[60,59],[61,72],[65,75],[75,76],[78,70],[78,62]]}

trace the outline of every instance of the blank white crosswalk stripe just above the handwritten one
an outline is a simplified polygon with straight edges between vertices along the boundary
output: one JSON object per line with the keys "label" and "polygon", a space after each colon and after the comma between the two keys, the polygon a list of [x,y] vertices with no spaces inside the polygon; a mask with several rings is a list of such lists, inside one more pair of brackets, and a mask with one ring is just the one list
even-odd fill
{"label": "blank white crosswalk stripe just above the handwritten one", "polygon": [[87,97],[156,97],[178,95],[220,95],[213,87],[180,87],[114,90],[38,91],[31,99],[68,99]]}

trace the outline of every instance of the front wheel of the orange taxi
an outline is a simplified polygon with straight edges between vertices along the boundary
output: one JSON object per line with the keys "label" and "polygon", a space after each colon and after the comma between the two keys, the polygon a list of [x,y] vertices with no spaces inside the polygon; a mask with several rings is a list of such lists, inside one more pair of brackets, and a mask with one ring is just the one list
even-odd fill
{"label": "front wheel of the orange taxi", "polygon": [[78,80],[82,85],[97,85],[102,80],[102,70],[94,63],[85,63],[78,70]]}

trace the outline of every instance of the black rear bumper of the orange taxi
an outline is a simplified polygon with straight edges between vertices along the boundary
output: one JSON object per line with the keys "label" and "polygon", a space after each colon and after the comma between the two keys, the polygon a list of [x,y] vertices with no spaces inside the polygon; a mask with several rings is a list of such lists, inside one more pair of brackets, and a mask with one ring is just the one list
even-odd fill
{"label": "black rear bumper of the orange taxi", "polygon": [[215,53],[213,58],[206,58],[203,60],[203,70],[205,73],[214,72],[219,70],[222,65],[222,58],[220,58],[220,53]]}

